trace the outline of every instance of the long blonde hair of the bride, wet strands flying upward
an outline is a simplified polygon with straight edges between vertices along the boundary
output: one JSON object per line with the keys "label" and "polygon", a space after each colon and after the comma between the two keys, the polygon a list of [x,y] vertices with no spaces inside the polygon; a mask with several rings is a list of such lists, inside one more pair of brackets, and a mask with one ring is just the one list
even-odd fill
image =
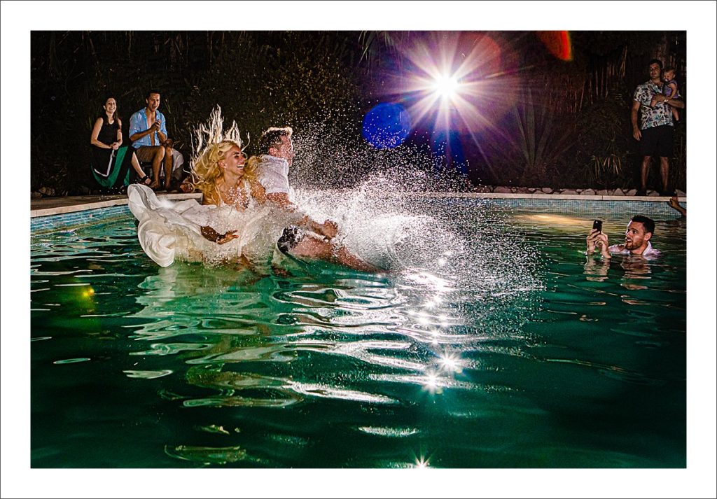
{"label": "long blonde hair of the bride, wet strands flying upward", "polygon": [[[218,204],[216,185],[217,180],[224,173],[219,161],[224,160],[224,155],[234,146],[244,150],[237,122],[232,121],[232,126],[226,132],[223,128],[222,108],[217,105],[209,115],[209,120],[194,130],[196,144],[192,144],[194,154],[191,173],[196,180],[193,185],[194,189],[201,191],[204,198],[212,204]],[[256,181],[256,168],[247,168],[247,166],[244,166],[244,177],[250,182]]]}

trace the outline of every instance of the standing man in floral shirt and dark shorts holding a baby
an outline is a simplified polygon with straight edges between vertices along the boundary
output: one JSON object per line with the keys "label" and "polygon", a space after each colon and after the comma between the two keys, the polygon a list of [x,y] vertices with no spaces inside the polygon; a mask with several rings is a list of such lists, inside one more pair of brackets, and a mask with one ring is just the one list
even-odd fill
{"label": "standing man in floral shirt and dark shorts holding a baby", "polygon": [[[673,114],[672,108],[683,109],[685,103],[680,99],[668,98],[663,94],[663,62],[659,59],[650,61],[650,80],[637,85],[632,103],[632,136],[640,142],[642,170],[640,171],[640,190],[638,196],[647,194],[647,171],[650,159],[657,153],[660,156],[660,176],[663,189],[660,194],[669,195],[668,174],[670,172],[670,156],[673,155]],[[640,127],[637,126],[637,111],[640,110]]]}

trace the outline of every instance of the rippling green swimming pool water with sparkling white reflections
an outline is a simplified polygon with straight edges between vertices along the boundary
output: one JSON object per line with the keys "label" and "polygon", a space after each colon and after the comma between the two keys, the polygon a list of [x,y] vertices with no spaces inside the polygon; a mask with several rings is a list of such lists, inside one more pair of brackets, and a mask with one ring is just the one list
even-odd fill
{"label": "rippling green swimming pool water with sparkling white reflections", "polygon": [[394,272],[162,269],[124,206],[34,220],[32,467],[685,467],[669,208],[663,257],[603,265],[590,221],[617,242],[630,201],[414,197],[376,222],[352,199],[319,208],[389,234],[359,249]]}

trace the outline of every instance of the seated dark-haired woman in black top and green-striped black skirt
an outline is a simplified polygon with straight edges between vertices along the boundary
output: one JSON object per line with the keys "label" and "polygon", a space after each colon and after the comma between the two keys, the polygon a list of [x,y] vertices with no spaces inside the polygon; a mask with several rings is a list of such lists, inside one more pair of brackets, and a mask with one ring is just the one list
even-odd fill
{"label": "seated dark-haired woman in black top and green-striped black skirt", "polygon": [[103,113],[95,121],[92,144],[92,175],[105,189],[121,189],[130,184],[130,165],[141,184],[150,184],[137,161],[134,149],[122,146],[122,120],[117,115],[117,100],[110,97],[102,106]]}

